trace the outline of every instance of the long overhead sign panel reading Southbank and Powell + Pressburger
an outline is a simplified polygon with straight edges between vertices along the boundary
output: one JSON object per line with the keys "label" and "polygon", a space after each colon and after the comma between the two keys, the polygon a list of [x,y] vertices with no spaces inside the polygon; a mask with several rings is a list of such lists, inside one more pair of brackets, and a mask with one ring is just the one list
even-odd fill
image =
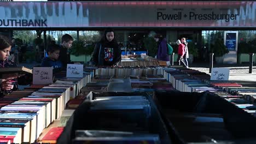
{"label": "long overhead sign panel reading Southbank and Powell + Pressburger", "polygon": [[0,27],[256,27],[253,1],[1,2]]}

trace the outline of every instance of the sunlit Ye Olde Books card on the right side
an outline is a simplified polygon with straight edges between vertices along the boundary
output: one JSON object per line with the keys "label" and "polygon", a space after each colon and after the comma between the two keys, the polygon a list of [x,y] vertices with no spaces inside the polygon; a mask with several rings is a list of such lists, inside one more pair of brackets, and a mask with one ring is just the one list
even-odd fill
{"label": "sunlit Ye Olde Books card on the right side", "polygon": [[228,68],[212,68],[211,80],[227,81],[229,80]]}

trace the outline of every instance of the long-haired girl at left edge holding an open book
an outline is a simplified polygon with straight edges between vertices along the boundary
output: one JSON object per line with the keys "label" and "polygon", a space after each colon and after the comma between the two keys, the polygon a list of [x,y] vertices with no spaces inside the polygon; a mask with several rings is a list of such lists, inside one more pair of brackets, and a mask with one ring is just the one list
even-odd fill
{"label": "long-haired girl at left edge holding an open book", "polygon": [[[0,68],[6,67],[17,67],[17,65],[8,59],[10,55],[11,49],[11,41],[3,36],[0,35]],[[18,89],[18,82],[17,77],[19,77],[19,85],[28,85],[32,81],[31,75],[22,75],[18,74],[8,74],[8,75],[1,75],[1,89],[0,89],[0,97],[3,97],[4,94],[11,93],[11,91],[15,91]]]}

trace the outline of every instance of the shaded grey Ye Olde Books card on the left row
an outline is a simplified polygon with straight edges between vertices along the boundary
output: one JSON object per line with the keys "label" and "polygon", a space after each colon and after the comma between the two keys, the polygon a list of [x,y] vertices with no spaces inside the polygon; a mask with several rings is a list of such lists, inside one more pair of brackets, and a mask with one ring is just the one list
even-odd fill
{"label": "shaded grey Ye Olde Books card on the left row", "polygon": [[34,67],[33,85],[48,85],[53,83],[52,67]]}

